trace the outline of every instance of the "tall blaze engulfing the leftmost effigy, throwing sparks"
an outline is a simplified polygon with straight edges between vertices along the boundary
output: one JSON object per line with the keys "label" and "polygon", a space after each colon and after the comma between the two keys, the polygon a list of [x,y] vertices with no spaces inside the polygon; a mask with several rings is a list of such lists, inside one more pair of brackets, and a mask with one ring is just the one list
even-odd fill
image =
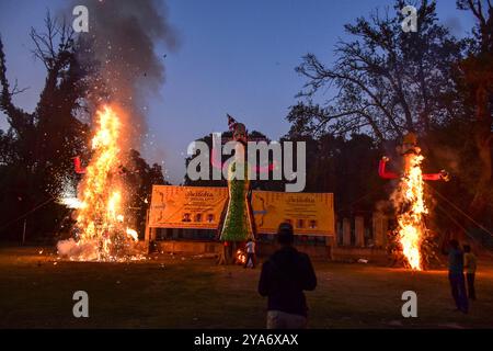
{"label": "tall blaze engulfing the leftmost effigy, throwing sparks", "polygon": [[136,230],[125,224],[126,192],[122,178],[122,122],[111,106],[98,111],[93,156],[79,186],[76,240],[58,244],[58,251],[78,261],[135,259]]}

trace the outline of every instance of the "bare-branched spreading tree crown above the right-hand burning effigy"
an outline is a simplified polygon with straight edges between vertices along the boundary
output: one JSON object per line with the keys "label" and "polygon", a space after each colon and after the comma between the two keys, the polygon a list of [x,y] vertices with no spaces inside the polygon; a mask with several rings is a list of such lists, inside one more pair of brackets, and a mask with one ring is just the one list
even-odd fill
{"label": "bare-branched spreading tree crown above the right-hand burning effigy", "polygon": [[[426,134],[433,123],[458,114],[451,76],[465,43],[437,24],[436,4],[427,0],[417,9],[417,32],[403,32],[404,5],[395,1],[393,16],[387,9],[346,24],[354,39],[336,44],[332,67],[307,54],[296,68],[307,78],[299,94],[306,101],[291,109],[288,121],[313,133],[368,133],[382,141],[404,131]],[[326,89],[334,92],[329,103],[314,103]]]}

